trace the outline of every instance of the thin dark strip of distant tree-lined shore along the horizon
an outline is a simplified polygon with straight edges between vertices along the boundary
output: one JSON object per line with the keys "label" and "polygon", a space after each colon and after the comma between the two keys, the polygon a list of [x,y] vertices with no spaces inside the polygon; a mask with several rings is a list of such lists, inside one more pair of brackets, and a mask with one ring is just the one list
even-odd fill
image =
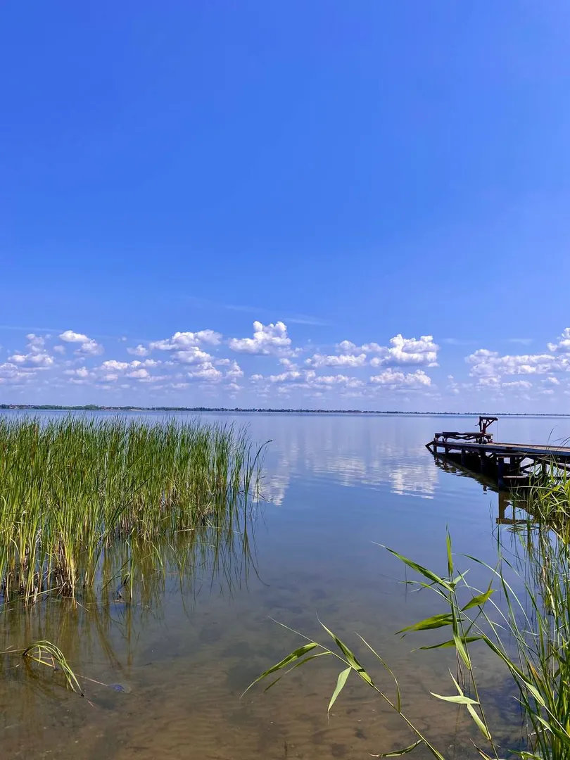
{"label": "thin dark strip of distant tree-lined shore along the horizon", "polygon": [[554,412],[395,412],[391,410],[365,409],[263,409],[261,407],[99,407],[85,404],[81,407],[59,406],[58,404],[0,404],[0,411],[67,411],[67,412],[217,412],[217,413],[272,413],[272,414],[377,414],[390,416],[479,416],[480,414],[501,417],[570,417],[570,413]]}

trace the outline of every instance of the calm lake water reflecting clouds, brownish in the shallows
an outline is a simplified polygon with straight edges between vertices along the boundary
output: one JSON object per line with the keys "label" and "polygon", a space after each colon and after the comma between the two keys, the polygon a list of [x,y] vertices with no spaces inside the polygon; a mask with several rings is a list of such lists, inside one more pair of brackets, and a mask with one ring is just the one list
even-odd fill
{"label": "calm lake water reflecting clouds, brownish in the shallows", "polygon": [[[410,717],[446,757],[473,756],[470,737],[478,737],[461,709],[429,696],[453,693],[454,658],[413,651],[438,638],[394,635],[442,610],[428,592],[407,592],[398,582],[404,566],[377,545],[445,574],[448,527],[454,553],[496,559],[504,497],[499,504],[492,489],[438,467],[424,448],[436,430],[472,429],[473,417],[202,417],[246,423],[255,441],[271,439],[266,501],[252,515],[249,547],[236,540],[216,566],[206,552],[182,583],[175,572],[166,579],[149,573],[137,605],[86,602],[74,610],[53,599],[5,611],[0,650],[55,641],[86,677],[86,698],[62,689],[57,674],[26,673],[19,660],[2,660],[2,758],[318,760],[366,758],[410,744],[401,720],[352,677],[328,722],[339,670],[328,658],[240,699],[262,670],[301,643],[274,621],[325,641],[317,615],[393,693],[356,632],[385,657]],[[496,440],[517,442],[568,435],[570,420],[561,418],[502,418],[495,431]],[[458,564],[473,565],[459,556]],[[485,583],[477,568],[470,572],[472,583]],[[515,748],[521,719],[510,683],[485,652],[477,662],[497,735]]]}

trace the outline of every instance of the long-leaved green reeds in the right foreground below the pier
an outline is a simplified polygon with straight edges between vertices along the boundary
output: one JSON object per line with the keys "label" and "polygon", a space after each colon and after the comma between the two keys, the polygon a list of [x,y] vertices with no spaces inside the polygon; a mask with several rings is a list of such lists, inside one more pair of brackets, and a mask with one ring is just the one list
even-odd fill
{"label": "long-leaved green reeds in the right foreground below the pier", "polygon": [[[419,579],[405,581],[414,590],[435,594],[435,614],[397,632],[442,629],[442,641],[422,649],[450,648],[456,655],[456,673],[451,675],[451,694],[432,697],[448,708],[467,710],[479,733],[474,749],[485,758],[501,758],[512,752],[493,736],[492,720],[486,714],[477,684],[477,646],[489,648],[511,678],[513,702],[518,701],[524,724],[524,749],[516,752],[525,760],[568,760],[570,758],[570,481],[565,471],[550,470],[530,489],[515,498],[515,508],[524,508],[527,518],[515,521],[515,549],[507,552],[499,535],[496,566],[475,557],[469,561],[486,568],[489,584],[476,588],[467,570],[458,570],[447,538],[447,573],[438,575],[388,549]],[[387,548],[387,547],[385,547]],[[519,549],[523,549],[522,552]],[[405,714],[400,686],[382,655],[360,637],[372,661],[388,673],[392,689],[379,685],[371,671],[337,635],[322,624],[333,644],[302,637],[306,643],[266,670],[254,683],[271,679],[269,689],[284,673],[306,665],[316,657],[340,660],[341,670],[328,705],[331,710],[351,675],[358,676],[392,710],[401,716],[414,741],[410,746],[377,757],[394,757],[416,747],[427,749],[438,760],[445,755]],[[287,627],[287,626],[285,626]],[[253,686],[253,684],[252,684]],[[249,687],[251,688],[251,687]],[[492,715],[492,711],[490,711]]]}

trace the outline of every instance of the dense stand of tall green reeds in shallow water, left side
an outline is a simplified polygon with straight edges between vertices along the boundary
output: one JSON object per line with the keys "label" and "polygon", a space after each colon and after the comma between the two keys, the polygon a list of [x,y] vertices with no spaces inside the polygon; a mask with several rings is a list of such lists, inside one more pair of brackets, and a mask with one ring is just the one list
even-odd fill
{"label": "dense stand of tall green reeds in shallow water, left side", "polygon": [[165,539],[222,524],[231,534],[256,495],[260,453],[234,426],[0,418],[0,595],[74,597],[117,544],[128,585]]}

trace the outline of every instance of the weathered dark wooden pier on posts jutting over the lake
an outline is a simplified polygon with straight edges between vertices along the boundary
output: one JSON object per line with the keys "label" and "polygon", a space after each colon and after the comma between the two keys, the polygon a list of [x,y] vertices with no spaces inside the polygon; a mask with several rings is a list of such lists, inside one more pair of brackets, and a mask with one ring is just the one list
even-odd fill
{"label": "weathered dark wooden pier on posts jutting over the lake", "polygon": [[[570,467],[570,446],[499,443],[487,428],[496,417],[480,416],[475,432],[436,432],[426,444],[435,458],[445,458],[474,473],[492,477],[499,488],[525,486],[532,475],[554,464],[560,472]],[[570,471],[568,472],[570,475]]]}

